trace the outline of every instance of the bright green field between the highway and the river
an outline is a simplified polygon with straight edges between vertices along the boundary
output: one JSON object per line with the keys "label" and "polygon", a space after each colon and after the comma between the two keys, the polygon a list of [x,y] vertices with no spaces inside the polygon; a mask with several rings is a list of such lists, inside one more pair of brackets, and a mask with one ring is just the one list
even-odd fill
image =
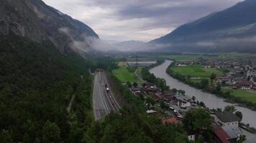
{"label": "bright green field between the highway and the river", "polygon": [[119,66],[119,69],[114,69],[112,72],[121,82],[135,82],[135,74],[129,72],[127,66]]}

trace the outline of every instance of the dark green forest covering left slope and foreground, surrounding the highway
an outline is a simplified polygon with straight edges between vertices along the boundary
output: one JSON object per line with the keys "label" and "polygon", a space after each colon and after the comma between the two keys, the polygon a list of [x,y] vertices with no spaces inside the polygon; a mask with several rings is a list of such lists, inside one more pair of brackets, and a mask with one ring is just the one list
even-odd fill
{"label": "dark green forest covering left slope and foreground, surrounding the highway", "polygon": [[120,114],[94,121],[89,69],[116,68],[108,57],[83,59],[48,41],[0,39],[0,142],[188,142],[183,127],[149,117],[142,99],[111,73],[127,104]]}

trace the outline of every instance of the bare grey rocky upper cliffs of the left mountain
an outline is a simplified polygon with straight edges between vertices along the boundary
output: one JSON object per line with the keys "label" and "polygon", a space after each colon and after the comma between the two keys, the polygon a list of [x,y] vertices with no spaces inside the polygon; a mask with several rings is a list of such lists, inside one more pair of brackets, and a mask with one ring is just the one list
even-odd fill
{"label": "bare grey rocky upper cliffs of the left mountain", "polygon": [[[0,34],[16,34],[34,41],[50,40],[59,51],[68,53],[89,48],[99,36],[86,24],[47,6],[41,0],[0,1]],[[82,42],[85,49],[76,47]]]}

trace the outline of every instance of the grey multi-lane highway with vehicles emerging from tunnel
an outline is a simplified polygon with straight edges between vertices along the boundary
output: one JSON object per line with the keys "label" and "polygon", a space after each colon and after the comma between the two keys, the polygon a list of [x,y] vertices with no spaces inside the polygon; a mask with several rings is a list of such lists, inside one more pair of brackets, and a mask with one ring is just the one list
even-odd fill
{"label": "grey multi-lane highway with vehicles emerging from tunnel", "polygon": [[110,112],[119,112],[120,106],[114,99],[104,71],[96,72],[93,86],[93,114],[95,120],[102,119]]}

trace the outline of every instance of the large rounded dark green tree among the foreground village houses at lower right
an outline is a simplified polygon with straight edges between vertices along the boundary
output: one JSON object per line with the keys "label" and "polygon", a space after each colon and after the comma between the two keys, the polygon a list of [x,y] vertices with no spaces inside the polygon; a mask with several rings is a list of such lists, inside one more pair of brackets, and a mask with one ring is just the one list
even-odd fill
{"label": "large rounded dark green tree among the foreground village houses at lower right", "polygon": [[191,109],[183,118],[184,127],[198,138],[199,133],[209,134],[211,132],[211,116],[206,109]]}

